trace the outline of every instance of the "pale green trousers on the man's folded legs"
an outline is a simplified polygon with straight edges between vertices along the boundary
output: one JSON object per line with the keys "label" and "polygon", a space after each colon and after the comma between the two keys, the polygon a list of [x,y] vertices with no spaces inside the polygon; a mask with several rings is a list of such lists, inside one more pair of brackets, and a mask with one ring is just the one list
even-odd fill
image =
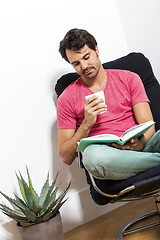
{"label": "pale green trousers on the man's folded legs", "polygon": [[99,179],[120,180],[135,176],[160,165],[160,131],[152,137],[143,152],[92,144],[84,151],[83,164],[87,171]]}

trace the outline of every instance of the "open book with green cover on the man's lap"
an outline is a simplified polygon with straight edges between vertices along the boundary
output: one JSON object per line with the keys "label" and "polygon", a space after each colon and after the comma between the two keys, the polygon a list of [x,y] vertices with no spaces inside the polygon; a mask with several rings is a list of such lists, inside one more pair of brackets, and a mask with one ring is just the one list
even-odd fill
{"label": "open book with green cover on the man's lap", "polygon": [[77,152],[83,152],[84,149],[90,144],[101,144],[101,143],[117,143],[119,145],[124,145],[133,137],[140,137],[145,133],[155,122],[148,121],[145,123],[141,123],[137,126],[134,126],[127,131],[125,131],[121,137],[118,137],[114,134],[102,134],[96,135],[93,137],[82,138],[80,142],[78,142]]}

